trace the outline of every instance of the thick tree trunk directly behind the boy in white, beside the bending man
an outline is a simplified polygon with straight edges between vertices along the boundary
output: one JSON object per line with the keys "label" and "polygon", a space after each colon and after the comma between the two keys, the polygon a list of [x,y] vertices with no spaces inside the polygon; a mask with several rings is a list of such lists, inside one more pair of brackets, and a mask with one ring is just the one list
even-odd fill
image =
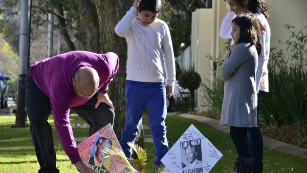
{"label": "thick tree trunk directly behind the boy in white, beside the bending man", "polygon": [[125,79],[127,42],[115,33],[115,26],[133,5],[133,0],[95,0],[97,8],[101,52],[113,51],[119,58],[119,70],[113,82],[110,83],[108,94],[115,107],[114,131],[118,139],[125,125]]}

